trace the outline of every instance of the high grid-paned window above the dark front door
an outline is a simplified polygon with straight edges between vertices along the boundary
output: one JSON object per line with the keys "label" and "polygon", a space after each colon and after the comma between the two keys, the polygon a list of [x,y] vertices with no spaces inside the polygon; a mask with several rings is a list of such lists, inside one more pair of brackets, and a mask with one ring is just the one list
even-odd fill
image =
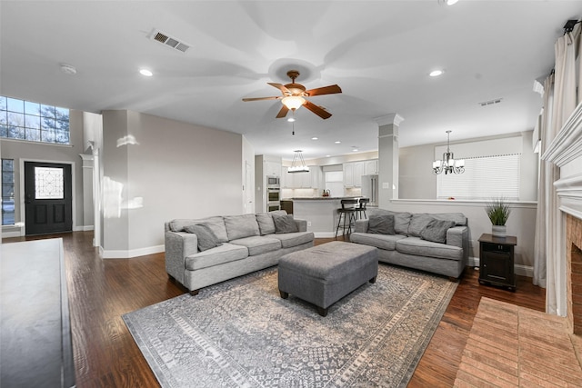
{"label": "high grid-paned window above the dark front door", "polygon": [[0,137],[69,144],[69,110],[0,95]]}

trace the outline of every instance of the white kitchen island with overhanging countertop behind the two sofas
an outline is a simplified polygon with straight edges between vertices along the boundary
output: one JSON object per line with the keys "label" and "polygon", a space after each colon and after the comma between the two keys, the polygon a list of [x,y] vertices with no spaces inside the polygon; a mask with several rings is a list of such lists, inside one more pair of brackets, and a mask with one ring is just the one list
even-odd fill
{"label": "white kitchen island with overhanging countertop behind the two sofas", "polygon": [[286,198],[293,201],[293,217],[307,221],[307,232],[313,232],[317,238],[336,236],[337,209],[342,207],[342,199],[359,197],[294,197]]}

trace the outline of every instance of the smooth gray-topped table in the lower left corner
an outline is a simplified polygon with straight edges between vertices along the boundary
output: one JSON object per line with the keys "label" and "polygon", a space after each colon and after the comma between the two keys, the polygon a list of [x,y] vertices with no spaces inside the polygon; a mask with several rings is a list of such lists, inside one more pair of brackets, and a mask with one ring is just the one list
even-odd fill
{"label": "smooth gray-topped table in the lower left corner", "polygon": [[2,386],[75,386],[63,240],[1,248]]}

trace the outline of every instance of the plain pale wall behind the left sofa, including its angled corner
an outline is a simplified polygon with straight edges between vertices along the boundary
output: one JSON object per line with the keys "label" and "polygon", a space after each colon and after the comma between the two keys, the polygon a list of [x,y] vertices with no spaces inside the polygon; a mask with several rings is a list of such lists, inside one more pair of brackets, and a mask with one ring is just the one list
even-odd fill
{"label": "plain pale wall behind the left sofa, including its angled corner", "polygon": [[240,134],[130,111],[103,118],[104,180],[123,185],[121,208],[102,215],[104,257],[162,252],[174,218],[244,212]]}

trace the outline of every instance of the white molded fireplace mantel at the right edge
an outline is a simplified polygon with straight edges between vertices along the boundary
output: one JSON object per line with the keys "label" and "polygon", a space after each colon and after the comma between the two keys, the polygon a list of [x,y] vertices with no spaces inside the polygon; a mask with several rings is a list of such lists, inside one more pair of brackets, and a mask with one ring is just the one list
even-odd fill
{"label": "white molded fireplace mantel at the right edge", "polygon": [[560,167],[560,179],[554,182],[560,210],[582,219],[582,104],[577,105],[542,159]]}

